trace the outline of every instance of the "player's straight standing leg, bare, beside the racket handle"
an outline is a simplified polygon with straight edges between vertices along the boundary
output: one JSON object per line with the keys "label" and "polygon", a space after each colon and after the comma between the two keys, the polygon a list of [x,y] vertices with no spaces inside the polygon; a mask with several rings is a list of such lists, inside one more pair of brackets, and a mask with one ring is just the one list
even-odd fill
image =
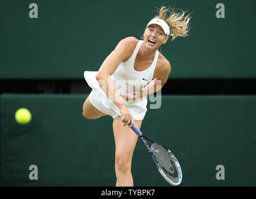
{"label": "player's straight standing leg, bare, beside the racket handle", "polygon": [[[142,121],[134,120],[140,129]],[[115,136],[115,172],[116,186],[133,186],[131,175],[131,159],[138,140],[138,136],[128,126],[123,126],[120,116],[113,120],[113,132]]]}

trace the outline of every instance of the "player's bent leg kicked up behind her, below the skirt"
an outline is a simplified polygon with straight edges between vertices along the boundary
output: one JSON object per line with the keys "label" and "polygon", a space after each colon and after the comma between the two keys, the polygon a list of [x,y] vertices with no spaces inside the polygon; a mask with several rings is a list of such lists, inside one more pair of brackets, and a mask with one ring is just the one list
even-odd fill
{"label": "player's bent leg kicked up behind her, below the skirt", "polygon": [[90,103],[90,95],[85,99],[83,103],[83,117],[87,119],[97,119],[107,114],[102,113]]}

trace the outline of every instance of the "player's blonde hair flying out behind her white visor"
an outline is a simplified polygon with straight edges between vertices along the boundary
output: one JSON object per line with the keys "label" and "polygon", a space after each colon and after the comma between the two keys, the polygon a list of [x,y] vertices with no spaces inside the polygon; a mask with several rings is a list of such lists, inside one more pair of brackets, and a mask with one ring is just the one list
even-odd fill
{"label": "player's blonde hair flying out behind her white visor", "polygon": [[[185,16],[186,12],[174,11],[174,8],[162,6],[158,9],[158,16],[155,18],[163,19],[171,30],[170,35],[173,37],[171,40],[176,39],[176,37],[186,37],[189,32],[189,21],[191,19],[190,14]],[[169,16],[168,16],[169,13]]]}

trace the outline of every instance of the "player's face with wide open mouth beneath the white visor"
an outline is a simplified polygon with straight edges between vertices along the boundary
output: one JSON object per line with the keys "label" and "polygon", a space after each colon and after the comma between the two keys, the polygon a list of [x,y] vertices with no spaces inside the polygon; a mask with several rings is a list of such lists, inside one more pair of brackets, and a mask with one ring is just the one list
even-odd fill
{"label": "player's face with wide open mouth beneath the white visor", "polygon": [[164,30],[158,24],[151,24],[146,27],[143,37],[146,46],[150,49],[158,49],[169,39],[168,35],[164,34]]}

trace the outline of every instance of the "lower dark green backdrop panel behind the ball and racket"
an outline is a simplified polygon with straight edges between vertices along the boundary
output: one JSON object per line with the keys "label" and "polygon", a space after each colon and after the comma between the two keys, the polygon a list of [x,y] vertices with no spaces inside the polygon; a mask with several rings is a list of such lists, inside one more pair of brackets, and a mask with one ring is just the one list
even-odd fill
{"label": "lower dark green backdrop panel behind the ball and racket", "polygon": [[[1,185],[115,186],[112,119],[82,117],[87,95],[1,95]],[[14,114],[26,107],[31,123]],[[183,169],[181,186],[255,186],[256,96],[163,96],[141,130],[168,146]],[[38,180],[29,179],[37,165]],[[216,180],[224,165],[225,180]],[[169,186],[139,140],[135,186]],[[150,174],[150,175],[148,175]]]}

